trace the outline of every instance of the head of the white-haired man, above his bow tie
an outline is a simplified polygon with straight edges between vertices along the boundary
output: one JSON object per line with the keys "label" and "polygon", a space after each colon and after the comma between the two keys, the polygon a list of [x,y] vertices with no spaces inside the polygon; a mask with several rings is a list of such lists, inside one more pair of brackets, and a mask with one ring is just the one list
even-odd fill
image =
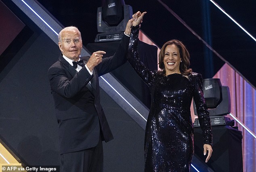
{"label": "head of the white-haired man, above his bow tie", "polygon": [[82,49],[82,39],[77,28],[65,29],[61,32],[59,48],[67,58],[78,61]]}

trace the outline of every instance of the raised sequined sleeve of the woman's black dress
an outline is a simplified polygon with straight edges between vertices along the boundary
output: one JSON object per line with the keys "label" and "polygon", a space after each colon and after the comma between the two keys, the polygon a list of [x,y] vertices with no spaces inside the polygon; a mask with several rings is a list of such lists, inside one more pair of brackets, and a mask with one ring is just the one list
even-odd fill
{"label": "raised sequined sleeve of the woman's black dress", "polygon": [[143,64],[143,62],[141,62],[139,59],[139,56],[138,56],[138,40],[139,40],[138,32],[139,32],[139,25],[132,26],[127,58],[128,58],[129,63],[132,65],[133,69],[138,74],[138,76],[140,76],[141,79],[147,85],[150,86],[155,73],[151,72],[148,69],[148,67],[146,67]]}

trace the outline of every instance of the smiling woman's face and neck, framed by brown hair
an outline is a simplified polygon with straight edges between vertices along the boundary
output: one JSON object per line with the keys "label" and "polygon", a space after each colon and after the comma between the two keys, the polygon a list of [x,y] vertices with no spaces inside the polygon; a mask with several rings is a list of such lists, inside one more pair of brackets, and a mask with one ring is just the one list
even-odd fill
{"label": "smiling woman's face and neck, framed by brown hair", "polygon": [[174,44],[168,45],[164,51],[164,67],[166,76],[172,73],[180,73],[180,51]]}

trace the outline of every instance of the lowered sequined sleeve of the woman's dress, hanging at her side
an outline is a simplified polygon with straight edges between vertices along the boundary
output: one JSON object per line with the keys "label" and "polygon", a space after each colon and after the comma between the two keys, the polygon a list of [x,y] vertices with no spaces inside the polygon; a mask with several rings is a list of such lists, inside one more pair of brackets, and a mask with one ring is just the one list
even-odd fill
{"label": "lowered sequined sleeve of the woman's dress, hanging at her side", "polygon": [[202,129],[204,144],[212,145],[212,128],[210,125],[209,111],[207,110],[202,88],[202,76],[198,74],[194,83],[193,99],[195,101],[198,120]]}

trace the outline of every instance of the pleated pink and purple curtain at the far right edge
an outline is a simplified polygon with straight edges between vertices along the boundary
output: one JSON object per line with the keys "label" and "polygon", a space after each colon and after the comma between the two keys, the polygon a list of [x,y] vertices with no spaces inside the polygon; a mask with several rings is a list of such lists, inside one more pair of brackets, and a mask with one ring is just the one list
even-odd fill
{"label": "pleated pink and purple curtain at the far right edge", "polygon": [[[252,73],[253,74],[253,73]],[[255,74],[254,74],[255,75]],[[239,73],[227,63],[213,78],[220,78],[222,86],[229,86],[231,97],[231,113],[245,124],[254,134],[256,133],[256,91],[244,80]],[[233,119],[230,115],[228,115]],[[235,126],[243,132],[243,171],[256,171],[256,139],[239,123]]]}

